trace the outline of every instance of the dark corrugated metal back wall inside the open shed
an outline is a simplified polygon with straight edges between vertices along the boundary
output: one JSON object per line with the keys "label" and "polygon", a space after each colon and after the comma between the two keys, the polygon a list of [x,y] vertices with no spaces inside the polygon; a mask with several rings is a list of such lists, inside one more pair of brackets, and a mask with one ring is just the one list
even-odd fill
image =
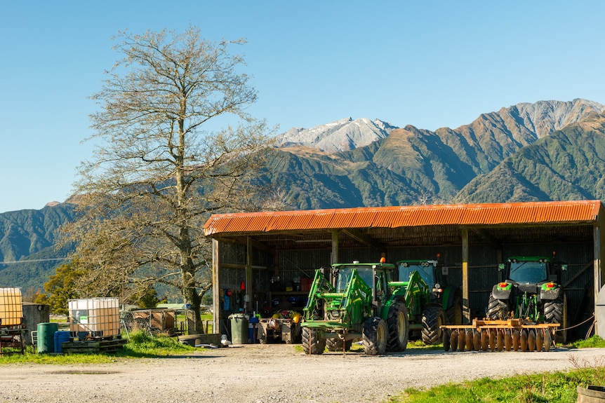
{"label": "dark corrugated metal back wall inside the open shed", "polygon": [[[510,256],[546,256],[552,257],[557,252],[557,259],[568,264],[568,270],[561,273],[561,282],[566,287],[568,315],[570,324],[579,323],[592,313],[593,298],[593,261],[592,243],[560,244],[518,244],[503,245],[502,260]],[[371,248],[339,250],[339,263],[354,260],[377,262],[380,253]],[[491,244],[470,245],[469,248],[469,289],[470,310],[472,317],[484,317],[485,309],[493,285],[502,280],[498,272],[498,252]],[[448,266],[448,283],[462,287],[462,255],[458,245],[447,247],[397,247],[387,250],[387,261],[396,263],[404,259],[436,259]],[[221,260],[227,264],[246,264],[246,247],[239,244],[222,243]],[[284,287],[295,287],[295,280],[314,276],[314,270],[328,267],[331,261],[331,250],[283,250],[279,252],[279,280]],[[255,269],[253,288],[257,291],[272,289],[272,257],[266,252],[253,252],[253,265],[265,266],[267,270]],[[239,289],[245,280],[243,268],[223,268],[221,270],[221,288]],[[590,325],[590,324],[589,324]],[[576,336],[585,332],[585,327],[576,331]]]}

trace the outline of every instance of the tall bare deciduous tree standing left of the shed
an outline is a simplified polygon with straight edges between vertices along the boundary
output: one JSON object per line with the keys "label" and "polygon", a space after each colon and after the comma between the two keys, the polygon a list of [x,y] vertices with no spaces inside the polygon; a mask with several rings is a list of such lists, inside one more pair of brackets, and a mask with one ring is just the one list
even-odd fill
{"label": "tall bare deciduous tree standing left of the shed", "polygon": [[[164,283],[177,287],[199,317],[211,288],[211,254],[202,226],[212,212],[246,209],[250,183],[270,138],[265,121],[246,113],[256,91],[239,55],[243,40],[213,43],[184,33],[120,32],[124,57],[93,96],[91,160],[75,191],[81,217],[64,228],[77,243],[84,279],[99,296],[128,298]],[[208,132],[208,121],[237,125]]]}

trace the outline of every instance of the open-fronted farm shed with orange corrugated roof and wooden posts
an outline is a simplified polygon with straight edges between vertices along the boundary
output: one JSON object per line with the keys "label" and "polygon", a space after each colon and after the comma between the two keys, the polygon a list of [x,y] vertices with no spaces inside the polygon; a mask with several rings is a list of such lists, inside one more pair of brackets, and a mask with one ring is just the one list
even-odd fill
{"label": "open-fronted farm shed with orange corrugated roof and wooden posts", "polygon": [[469,321],[484,317],[503,280],[498,263],[553,253],[568,266],[561,282],[576,325],[594,313],[603,285],[604,213],[600,200],[576,200],[214,214],[204,224],[213,238],[214,328],[222,332],[231,313],[269,314],[284,300],[302,311],[314,269],[380,257],[439,256]]}

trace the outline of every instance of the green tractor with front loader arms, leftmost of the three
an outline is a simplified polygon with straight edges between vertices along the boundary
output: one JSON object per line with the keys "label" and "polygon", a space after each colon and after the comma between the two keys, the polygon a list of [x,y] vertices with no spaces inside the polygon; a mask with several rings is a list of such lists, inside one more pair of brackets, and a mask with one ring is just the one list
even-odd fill
{"label": "green tractor with front loader arms, leftmost of the three", "polygon": [[355,261],[315,271],[300,323],[305,353],[350,350],[359,339],[367,355],[404,351],[408,310],[392,280],[397,266],[384,262]]}

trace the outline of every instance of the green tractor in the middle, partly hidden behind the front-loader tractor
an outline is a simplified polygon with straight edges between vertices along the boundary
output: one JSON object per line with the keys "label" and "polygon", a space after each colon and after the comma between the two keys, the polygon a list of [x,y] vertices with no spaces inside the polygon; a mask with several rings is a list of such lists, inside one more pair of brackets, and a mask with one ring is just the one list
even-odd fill
{"label": "green tractor in the middle, partly hidden behind the front-loader tractor", "polygon": [[397,262],[399,292],[405,290],[411,337],[427,345],[441,343],[442,325],[463,320],[460,289],[445,285],[447,268],[437,260]]}

